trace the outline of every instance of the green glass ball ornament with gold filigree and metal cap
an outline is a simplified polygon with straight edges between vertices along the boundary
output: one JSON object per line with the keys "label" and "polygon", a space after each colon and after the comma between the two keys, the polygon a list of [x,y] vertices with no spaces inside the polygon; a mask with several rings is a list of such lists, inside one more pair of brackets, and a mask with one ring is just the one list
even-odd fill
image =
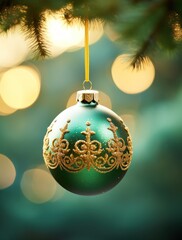
{"label": "green glass ball ornament with gold filigree and metal cap", "polygon": [[[84,95],[86,92],[86,95]],[[81,91],[44,137],[43,156],[55,180],[70,192],[96,195],[116,186],[128,170],[132,143],[128,128],[98,104],[96,91]]]}

